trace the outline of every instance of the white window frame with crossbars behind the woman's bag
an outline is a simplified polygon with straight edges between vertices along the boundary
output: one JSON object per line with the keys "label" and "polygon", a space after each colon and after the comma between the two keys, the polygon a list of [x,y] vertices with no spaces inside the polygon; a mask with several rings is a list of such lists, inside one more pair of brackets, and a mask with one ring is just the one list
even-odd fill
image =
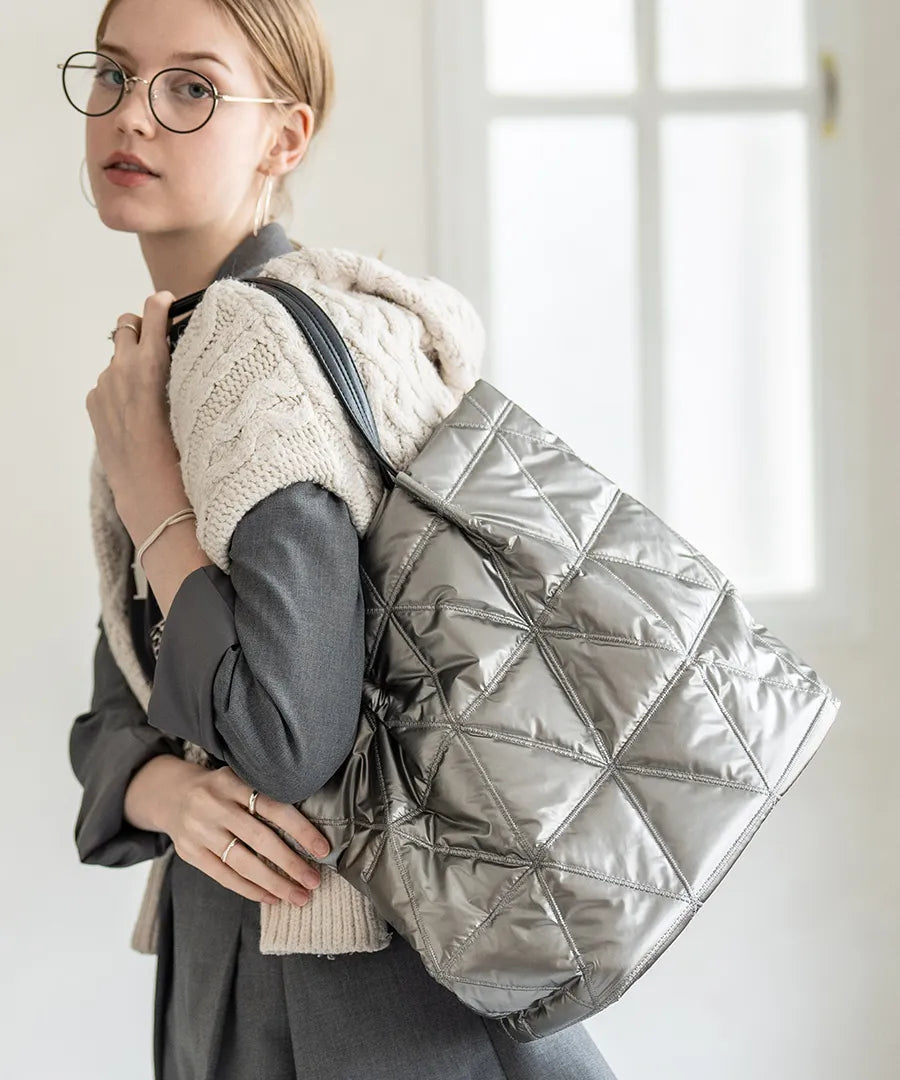
{"label": "white window frame with crossbars behind the woman's bag", "polygon": [[[810,340],[815,592],[803,597],[754,597],[739,592],[753,617],[798,649],[862,642],[872,585],[864,462],[867,327],[862,316],[863,176],[860,151],[860,26],[854,0],[806,0],[810,85],[798,90],[668,91],[649,84],[654,68],[656,0],[635,0],[637,90],[633,94],[493,95],[485,86],[482,0],[428,0],[426,72],[427,154],[431,201],[430,265],[462,289],[487,330],[483,376],[491,381],[491,282],[487,248],[487,125],[494,116],[632,117],[637,125],[640,356],[643,499],[664,518],[660,490],[660,259],[657,120],[667,104],[682,110],[793,108],[809,117]],[[836,133],[822,132],[823,54],[836,57],[839,97]],[[502,390],[502,386],[498,387]],[[537,420],[541,418],[536,417]],[[559,434],[565,437],[565,432]],[[602,470],[602,464],[597,463]],[[616,477],[610,477],[615,480]],[[689,536],[688,536],[689,539]],[[815,645],[814,645],[815,643]]]}

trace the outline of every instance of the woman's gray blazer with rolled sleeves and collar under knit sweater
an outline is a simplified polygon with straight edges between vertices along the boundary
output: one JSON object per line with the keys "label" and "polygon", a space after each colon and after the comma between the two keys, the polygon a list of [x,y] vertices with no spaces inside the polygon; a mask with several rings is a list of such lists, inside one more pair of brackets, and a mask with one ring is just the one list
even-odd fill
{"label": "woman's gray blazer with rolled sleeves and collar under knit sweater", "polygon": [[[216,278],[253,274],[284,249],[290,240],[271,222]],[[125,822],[123,802],[151,757],[184,756],[179,739],[294,804],[350,752],[365,654],[359,537],[346,503],[311,481],[291,484],[241,518],[229,554],[230,576],[202,566],[178,588],[146,716],[97,624],[91,706],[69,734],[83,788],[75,825],[83,863],[130,866],[163,853],[169,837]]]}

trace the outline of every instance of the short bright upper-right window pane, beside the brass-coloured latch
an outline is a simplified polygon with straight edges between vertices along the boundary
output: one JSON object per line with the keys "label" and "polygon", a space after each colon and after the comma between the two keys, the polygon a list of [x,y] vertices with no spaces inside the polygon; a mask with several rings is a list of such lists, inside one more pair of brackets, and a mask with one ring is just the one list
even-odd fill
{"label": "short bright upper-right window pane, beside the brass-coloured latch", "polygon": [[804,0],[658,2],[663,86],[804,83]]}

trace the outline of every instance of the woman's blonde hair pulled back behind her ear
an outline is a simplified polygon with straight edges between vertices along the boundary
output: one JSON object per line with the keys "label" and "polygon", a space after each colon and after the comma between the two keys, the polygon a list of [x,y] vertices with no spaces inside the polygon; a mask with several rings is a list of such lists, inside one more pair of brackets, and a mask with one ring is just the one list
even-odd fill
{"label": "woman's blonde hair pulled back behind her ear", "polygon": [[[107,0],[100,12],[94,48],[106,33],[106,26],[119,0]],[[334,102],[334,65],[325,32],[312,0],[206,0],[240,30],[251,46],[251,57],[264,85],[266,97],[285,97],[309,105],[315,123],[313,135],[322,130]],[[287,106],[271,105],[282,116]],[[280,176],[272,188],[270,220],[285,210],[293,210],[285,180]],[[299,244],[292,241],[294,247]]]}

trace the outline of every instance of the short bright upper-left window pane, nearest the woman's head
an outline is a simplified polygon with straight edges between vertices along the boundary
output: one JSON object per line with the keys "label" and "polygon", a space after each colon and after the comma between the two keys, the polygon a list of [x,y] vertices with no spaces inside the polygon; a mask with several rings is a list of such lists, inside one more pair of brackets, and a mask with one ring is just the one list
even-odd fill
{"label": "short bright upper-left window pane, nearest the woman's head", "polygon": [[494,94],[634,89],[634,0],[484,0]]}

